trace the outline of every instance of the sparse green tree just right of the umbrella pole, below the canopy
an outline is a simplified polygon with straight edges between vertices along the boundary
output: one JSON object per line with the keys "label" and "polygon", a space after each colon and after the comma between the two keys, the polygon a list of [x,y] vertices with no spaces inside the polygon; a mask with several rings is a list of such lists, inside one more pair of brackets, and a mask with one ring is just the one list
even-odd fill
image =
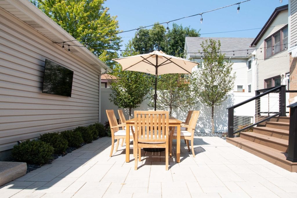
{"label": "sparse green tree just right of the umbrella pole, below the canopy", "polygon": [[[189,84],[179,74],[164,74],[157,80],[157,109],[187,111],[196,101],[191,94]],[[154,95],[151,94],[149,106],[154,107]]]}

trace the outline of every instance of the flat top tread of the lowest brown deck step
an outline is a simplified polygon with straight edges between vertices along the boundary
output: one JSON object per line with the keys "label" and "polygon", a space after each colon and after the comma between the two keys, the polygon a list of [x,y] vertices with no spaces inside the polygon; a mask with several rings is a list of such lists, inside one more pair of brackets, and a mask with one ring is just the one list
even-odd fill
{"label": "flat top tread of the lowest brown deck step", "polygon": [[283,161],[287,164],[293,164],[293,165],[297,165],[297,162],[291,162],[291,161],[288,161],[286,158],[288,156],[288,153],[285,153],[285,152],[282,152],[282,151],[279,151],[277,149],[274,149],[274,148],[270,148],[268,146],[265,146],[265,145],[261,145],[261,144],[258,144],[256,142],[252,142],[252,141],[249,141],[249,140],[245,140],[241,137],[234,137],[234,138],[228,138],[228,140],[232,141],[232,142],[237,142],[241,145],[245,145],[251,149],[254,149],[255,151],[259,152],[259,153],[263,153],[263,154],[266,154],[268,156],[272,156],[276,159],[278,159],[279,161]]}

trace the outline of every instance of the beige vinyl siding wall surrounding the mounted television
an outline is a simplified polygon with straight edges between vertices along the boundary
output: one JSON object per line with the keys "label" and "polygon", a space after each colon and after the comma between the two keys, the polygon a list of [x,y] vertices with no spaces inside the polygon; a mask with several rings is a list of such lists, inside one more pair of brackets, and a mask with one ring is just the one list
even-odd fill
{"label": "beige vinyl siding wall surrounding the mounted television", "polygon": [[[100,71],[67,50],[0,8],[0,151],[98,121]],[[74,71],[71,97],[42,93],[45,59]]]}

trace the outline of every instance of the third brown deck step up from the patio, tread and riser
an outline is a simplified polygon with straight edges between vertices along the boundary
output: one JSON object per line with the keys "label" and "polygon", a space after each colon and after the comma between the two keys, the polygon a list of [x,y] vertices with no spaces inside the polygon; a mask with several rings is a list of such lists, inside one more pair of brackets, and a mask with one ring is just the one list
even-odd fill
{"label": "third brown deck step up from the patio, tread and riser", "polygon": [[283,140],[289,140],[289,131],[283,129],[275,129],[270,127],[254,127],[254,133],[267,135],[270,137],[277,137]]}

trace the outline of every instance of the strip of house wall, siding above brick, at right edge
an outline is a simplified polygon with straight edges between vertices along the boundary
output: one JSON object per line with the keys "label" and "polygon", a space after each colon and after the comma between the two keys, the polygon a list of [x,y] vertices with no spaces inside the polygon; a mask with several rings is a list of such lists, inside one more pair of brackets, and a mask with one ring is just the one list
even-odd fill
{"label": "strip of house wall, siding above brick, at right edge", "polygon": [[[290,90],[297,90],[297,0],[290,0],[288,6],[288,28],[289,39],[288,52],[290,55]],[[297,96],[297,93],[290,93],[290,98]]]}

